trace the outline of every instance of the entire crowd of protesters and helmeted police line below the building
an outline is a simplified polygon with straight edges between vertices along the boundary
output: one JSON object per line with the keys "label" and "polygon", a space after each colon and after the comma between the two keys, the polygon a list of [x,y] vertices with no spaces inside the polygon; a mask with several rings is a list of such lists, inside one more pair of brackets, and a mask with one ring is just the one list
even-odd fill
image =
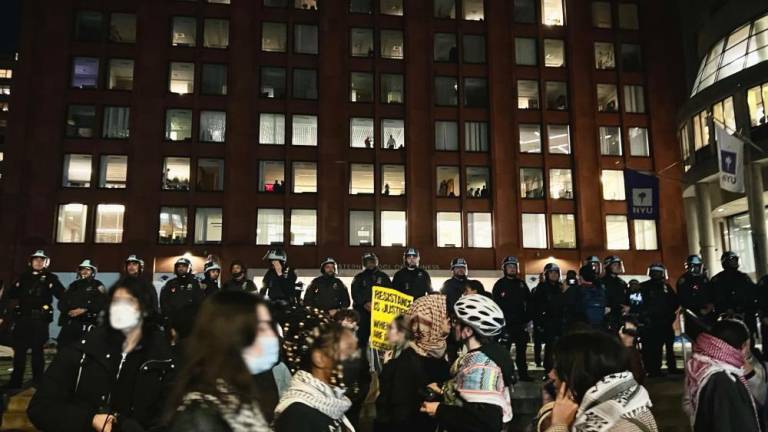
{"label": "entire crowd of protesters and helmeted police line below the building", "polygon": [[[648,432],[659,427],[643,384],[683,373],[682,316],[693,347],[682,406],[693,430],[766,425],[768,373],[754,341],[758,318],[768,319],[768,279],[754,284],[730,252],[711,280],[689,257],[675,288],[660,263],[646,281],[625,282],[617,256],[589,257],[565,278],[548,263],[532,290],[506,257],[490,291],[468,278],[463,258],[433,290],[413,248],[392,278],[366,253],[351,290],[332,258],[306,289],[284,251],[264,260],[259,288],[243,262],[221,283],[215,261],[199,278],[180,258],[158,295],[134,255],[109,289],[91,260],[65,288],[37,251],[3,291],[15,350],[6,388],[22,386],[31,350],[28,415],[44,431],[353,432],[367,416],[376,432],[498,432],[511,430],[517,382],[533,380],[533,334],[545,374],[531,430]],[[369,344],[375,286],[413,298],[385,351]],[[54,298],[61,332],[43,371]]]}

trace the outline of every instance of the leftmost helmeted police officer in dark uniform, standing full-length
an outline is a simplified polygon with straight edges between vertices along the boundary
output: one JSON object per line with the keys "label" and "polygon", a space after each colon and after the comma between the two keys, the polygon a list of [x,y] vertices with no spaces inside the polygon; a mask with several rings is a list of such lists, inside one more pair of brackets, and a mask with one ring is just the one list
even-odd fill
{"label": "leftmost helmeted police officer in dark uniform, standing full-length", "polygon": [[[48,341],[48,324],[53,320],[53,298],[61,298],[64,286],[48,270],[50,259],[38,250],[29,257],[29,268],[8,291],[13,306],[13,373],[8,388],[20,388],[27,363],[27,350],[32,350],[32,376],[39,380],[45,367],[43,345]],[[6,311],[7,314],[7,311]]]}

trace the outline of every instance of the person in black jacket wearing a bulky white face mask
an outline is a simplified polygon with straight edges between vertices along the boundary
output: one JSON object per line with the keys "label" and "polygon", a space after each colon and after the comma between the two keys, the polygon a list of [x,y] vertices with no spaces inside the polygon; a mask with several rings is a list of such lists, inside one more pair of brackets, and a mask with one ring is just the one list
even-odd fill
{"label": "person in black jacket wearing a bulky white face mask", "polygon": [[48,432],[143,431],[161,424],[174,371],[165,334],[153,321],[151,296],[133,278],[110,289],[108,324],[61,350],[27,411]]}

